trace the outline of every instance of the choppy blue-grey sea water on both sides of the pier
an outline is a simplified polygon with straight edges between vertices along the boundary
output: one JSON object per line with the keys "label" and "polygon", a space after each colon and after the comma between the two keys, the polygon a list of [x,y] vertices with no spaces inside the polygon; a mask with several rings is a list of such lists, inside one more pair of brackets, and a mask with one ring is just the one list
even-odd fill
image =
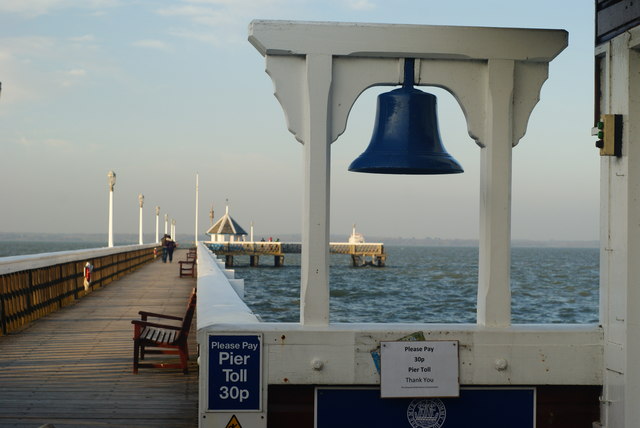
{"label": "choppy blue-grey sea water on both sides of the pier", "polygon": [[[104,247],[103,242],[0,242],[0,257]],[[331,322],[475,323],[478,249],[385,246],[385,267],[352,267],[347,255],[331,255]],[[511,250],[512,322],[598,322],[599,250]],[[234,257],[245,301],[264,321],[300,319],[300,255],[283,267],[262,256],[259,267]]]}

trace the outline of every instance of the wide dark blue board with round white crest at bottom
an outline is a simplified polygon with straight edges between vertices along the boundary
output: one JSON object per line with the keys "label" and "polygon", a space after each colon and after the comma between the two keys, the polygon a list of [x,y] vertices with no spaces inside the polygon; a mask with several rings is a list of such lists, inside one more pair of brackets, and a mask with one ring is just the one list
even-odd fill
{"label": "wide dark blue board with round white crest at bottom", "polygon": [[534,428],[535,388],[461,388],[458,398],[380,398],[379,388],[316,388],[316,427]]}

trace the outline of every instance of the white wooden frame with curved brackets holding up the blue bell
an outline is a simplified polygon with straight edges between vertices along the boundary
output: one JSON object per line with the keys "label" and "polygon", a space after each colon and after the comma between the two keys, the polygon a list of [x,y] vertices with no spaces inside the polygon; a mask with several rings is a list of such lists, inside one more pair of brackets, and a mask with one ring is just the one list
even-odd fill
{"label": "white wooden frame with curved brackets holding up the blue bell", "polygon": [[524,135],[562,30],[253,21],[288,129],[305,144],[301,323],[326,325],[330,144],[355,100],[403,79],[417,58],[420,85],[449,90],[481,156],[478,323],[510,324],[511,147]]}

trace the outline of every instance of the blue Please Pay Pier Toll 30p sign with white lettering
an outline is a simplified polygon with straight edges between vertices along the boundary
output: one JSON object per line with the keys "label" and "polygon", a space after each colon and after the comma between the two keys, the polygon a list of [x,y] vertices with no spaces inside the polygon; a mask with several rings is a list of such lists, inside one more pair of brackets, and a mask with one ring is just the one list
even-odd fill
{"label": "blue Please Pay Pier Toll 30p sign with white lettering", "polygon": [[209,336],[209,410],[261,410],[262,337]]}

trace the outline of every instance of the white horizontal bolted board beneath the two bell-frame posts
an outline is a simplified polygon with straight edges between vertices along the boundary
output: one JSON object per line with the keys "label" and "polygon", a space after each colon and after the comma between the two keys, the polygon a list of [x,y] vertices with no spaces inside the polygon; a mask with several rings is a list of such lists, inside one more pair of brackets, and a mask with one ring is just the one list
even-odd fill
{"label": "white horizontal bolted board beneath the two bell-frame posts", "polygon": [[[207,328],[200,330],[199,337],[204,337],[202,333],[206,331]],[[378,350],[381,341],[395,341],[417,331],[422,331],[427,340],[460,342],[460,383],[464,385],[602,383],[602,330],[593,325],[519,325],[500,329],[473,324],[215,326],[215,332],[222,334],[262,333],[267,382],[280,385],[379,385],[380,374],[371,352]],[[497,360],[504,360],[506,368],[497,368]]]}

